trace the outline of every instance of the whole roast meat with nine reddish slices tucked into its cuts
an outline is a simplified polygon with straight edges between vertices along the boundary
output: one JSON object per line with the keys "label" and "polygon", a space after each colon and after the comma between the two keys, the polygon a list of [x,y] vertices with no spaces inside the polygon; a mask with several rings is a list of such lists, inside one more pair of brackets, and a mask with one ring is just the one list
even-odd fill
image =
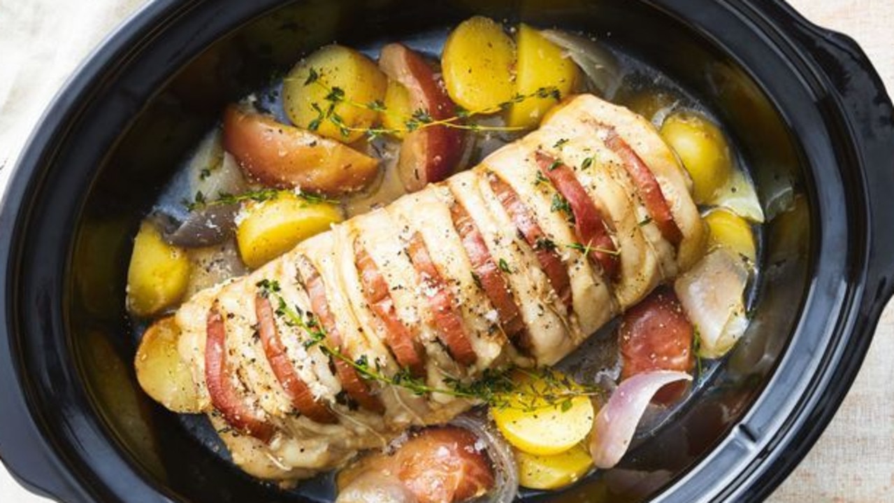
{"label": "whole roast meat with nine reddish slices tucked into its cuts", "polygon": [[475,405],[376,375],[451,389],[550,365],[689,268],[704,225],[688,185],[647,121],[569,99],[480,166],[197,294],[181,357],[247,472],[332,469]]}

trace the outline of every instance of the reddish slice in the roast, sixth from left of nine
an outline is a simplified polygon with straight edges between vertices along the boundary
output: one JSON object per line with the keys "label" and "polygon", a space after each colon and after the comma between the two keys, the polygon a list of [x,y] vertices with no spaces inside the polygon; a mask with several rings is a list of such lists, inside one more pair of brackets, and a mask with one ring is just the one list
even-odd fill
{"label": "reddish slice in the roast, sixth from left of nine", "polygon": [[472,263],[472,271],[477,277],[477,282],[493,303],[493,307],[500,317],[503,332],[513,344],[527,351],[530,349],[531,341],[525,327],[525,320],[522,320],[519,306],[512,298],[509,283],[503,277],[497,263],[493,261],[485,238],[475,225],[475,220],[468,215],[468,211],[459,202],[454,202],[451,206],[451,218],[453,226],[460,234],[460,240],[463,248],[466,249],[468,260]]}

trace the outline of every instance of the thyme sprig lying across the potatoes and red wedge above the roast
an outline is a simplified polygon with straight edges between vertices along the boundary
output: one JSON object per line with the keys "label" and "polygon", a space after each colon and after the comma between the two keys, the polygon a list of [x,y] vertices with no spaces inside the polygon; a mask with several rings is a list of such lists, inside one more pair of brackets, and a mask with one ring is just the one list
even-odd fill
{"label": "thyme sprig lying across the potatoes and red wedge above the roast", "polygon": [[[286,79],[288,81],[288,79]],[[316,118],[310,121],[308,124],[308,129],[311,131],[316,131],[319,129],[321,125],[325,122],[329,122],[333,124],[336,128],[338,128],[339,132],[342,133],[342,136],[348,137],[351,132],[363,132],[369,137],[371,140],[377,136],[381,136],[382,134],[400,134],[406,132],[414,132],[419,129],[424,129],[426,127],[432,127],[436,125],[449,127],[453,129],[459,129],[464,131],[495,131],[495,132],[514,132],[514,131],[522,131],[525,128],[522,126],[485,126],[482,124],[465,124],[463,123],[463,119],[468,119],[477,115],[490,115],[500,112],[502,110],[506,110],[511,107],[513,104],[521,103],[531,98],[553,98],[556,101],[561,99],[561,92],[555,86],[544,87],[535,90],[534,92],[527,94],[516,94],[512,98],[493,107],[484,107],[475,110],[467,110],[463,107],[456,107],[456,115],[445,119],[435,119],[430,115],[426,110],[419,108],[415,110],[409,118],[403,119],[403,127],[402,128],[386,128],[386,127],[354,127],[350,124],[346,124],[342,115],[339,115],[335,111],[335,107],[341,103],[348,105],[350,107],[362,108],[365,110],[371,110],[374,112],[383,113],[385,115],[390,115],[392,117],[397,114],[392,110],[389,110],[388,107],[385,106],[384,102],[380,99],[376,99],[374,101],[370,101],[368,103],[363,103],[350,97],[346,96],[344,90],[337,86],[330,86],[323,79],[322,72],[317,71],[315,68],[310,68],[308,72],[308,78],[304,81],[305,86],[316,85],[325,90],[325,104],[321,106],[319,103],[312,103],[310,106],[316,112]],[[401,117],[398,117],[401,119]]]}

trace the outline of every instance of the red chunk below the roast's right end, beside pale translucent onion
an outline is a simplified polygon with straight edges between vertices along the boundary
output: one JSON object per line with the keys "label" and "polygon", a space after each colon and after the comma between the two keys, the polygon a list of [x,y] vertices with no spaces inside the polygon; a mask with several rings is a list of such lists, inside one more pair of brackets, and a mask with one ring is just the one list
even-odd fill
{"label": "red chunk below the roast's right end, beside pale translucent onion", "polygon": [[[620,379],[645,371],[692,372],[694,332],[673,289],[658,287],[621,319]],[[686,392],[687,386],[687,382],[669,384],[655,393],[652,401],[671,404]]]}

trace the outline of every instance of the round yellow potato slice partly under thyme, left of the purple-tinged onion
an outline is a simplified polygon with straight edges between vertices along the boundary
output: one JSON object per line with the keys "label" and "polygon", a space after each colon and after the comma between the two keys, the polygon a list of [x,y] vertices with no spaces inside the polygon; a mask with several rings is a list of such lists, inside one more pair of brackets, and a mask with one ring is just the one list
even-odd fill
{"label": "round yellow potato slice partly under thyme, left of the purple-tinged onion", "polygon": [[[559,372],[552,374],[563,379]],[[547,403],[555,384],[540,377],[517,376],[518,388],[505,406],[491,408],[493,421],[512,446],[541,456],[573,448],[593,426],[593,404],[588,396],[574,396],[561,403]]]}

